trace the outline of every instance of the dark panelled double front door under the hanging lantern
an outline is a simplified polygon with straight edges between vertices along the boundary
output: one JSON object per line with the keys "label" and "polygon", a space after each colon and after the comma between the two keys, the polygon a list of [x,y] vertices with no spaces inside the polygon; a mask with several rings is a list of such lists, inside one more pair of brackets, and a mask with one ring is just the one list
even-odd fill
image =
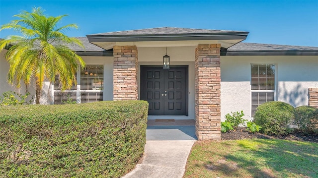
{"label": "dark panelled double front door under the hanging lantern", "polygon": [[141,66],[140,99],[148,101],[149,115],[188,115],[188,67]]}

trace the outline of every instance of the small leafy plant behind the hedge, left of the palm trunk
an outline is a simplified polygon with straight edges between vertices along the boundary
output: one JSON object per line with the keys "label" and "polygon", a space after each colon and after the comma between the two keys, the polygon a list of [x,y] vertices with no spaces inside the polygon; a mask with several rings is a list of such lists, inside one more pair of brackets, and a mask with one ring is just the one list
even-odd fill
{"label": "small leafy plant behind the hedge, left of the palm trunk", "polygon": [[26,101],[27,97],[30,95],[30,92],[27,92],[25,95],[7,91],[2,93],[2,97],[0,96],[0,106],[8,106],[8,105],[26,105],[31,104],[32,99],[34,96],[32,96],[32,99],[29,101]]}

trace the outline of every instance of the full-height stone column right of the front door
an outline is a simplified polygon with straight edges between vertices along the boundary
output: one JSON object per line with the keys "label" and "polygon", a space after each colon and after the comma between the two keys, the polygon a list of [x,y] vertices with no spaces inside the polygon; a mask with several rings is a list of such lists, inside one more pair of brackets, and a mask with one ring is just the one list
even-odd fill
{"label": "full-height stone column right of the front door", "polygon": [[221,44],[195,49],[195,132],[199,140],[221,139]]}

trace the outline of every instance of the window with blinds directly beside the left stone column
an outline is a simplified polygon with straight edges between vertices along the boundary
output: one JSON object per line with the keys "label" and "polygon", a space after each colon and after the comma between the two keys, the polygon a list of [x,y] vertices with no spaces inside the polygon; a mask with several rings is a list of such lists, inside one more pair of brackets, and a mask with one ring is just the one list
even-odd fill
{"label": "window with blinds directly beside the left stone column", "polygon": [[86,65],[80,71],[81,103],[103,101],[104,66]]}

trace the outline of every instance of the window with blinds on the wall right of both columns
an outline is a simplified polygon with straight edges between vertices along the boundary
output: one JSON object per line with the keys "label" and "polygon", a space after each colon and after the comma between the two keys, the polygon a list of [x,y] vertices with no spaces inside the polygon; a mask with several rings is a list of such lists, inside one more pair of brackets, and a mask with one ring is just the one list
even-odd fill
{"label": "window with blinds on the wall right of both columns", "polygon": [[251,64],[252,117],[256,108],[268,101],[274,101],[275,65]]}

